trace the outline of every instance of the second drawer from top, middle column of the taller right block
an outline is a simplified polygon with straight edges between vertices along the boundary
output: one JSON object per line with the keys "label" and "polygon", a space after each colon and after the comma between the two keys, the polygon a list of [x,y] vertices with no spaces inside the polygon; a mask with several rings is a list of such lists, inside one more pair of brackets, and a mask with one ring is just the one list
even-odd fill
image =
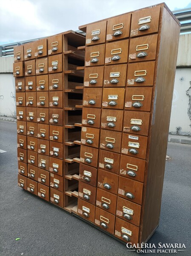
{"label": "second drawer from top, middle column of the taller right block", "polygon": [[106,44],[105,65],[126,63],[128,57],[128,39]]}

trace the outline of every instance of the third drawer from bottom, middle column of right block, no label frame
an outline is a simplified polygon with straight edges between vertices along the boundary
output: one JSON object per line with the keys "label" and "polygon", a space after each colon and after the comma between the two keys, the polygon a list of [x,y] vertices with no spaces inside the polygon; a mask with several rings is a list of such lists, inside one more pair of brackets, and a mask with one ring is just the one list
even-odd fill
{"label": "third drawer from bottom, middle column of right block, no label frame", "polygon": [[117,195],[118,179],[118,175],[99,169],[97,177],[97,187]]}

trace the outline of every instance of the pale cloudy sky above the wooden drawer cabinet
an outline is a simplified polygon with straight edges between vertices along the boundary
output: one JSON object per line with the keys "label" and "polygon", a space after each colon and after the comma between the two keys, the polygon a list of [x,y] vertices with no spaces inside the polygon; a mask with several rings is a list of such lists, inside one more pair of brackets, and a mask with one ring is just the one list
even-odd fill
{"label": "pale cloudy sky above the wooden drawer cabinet", "polygon": [[[0,45],[55,35],[163,0],[6,0],[0,5]],[[165,0],[171,11],[191,0]]]}

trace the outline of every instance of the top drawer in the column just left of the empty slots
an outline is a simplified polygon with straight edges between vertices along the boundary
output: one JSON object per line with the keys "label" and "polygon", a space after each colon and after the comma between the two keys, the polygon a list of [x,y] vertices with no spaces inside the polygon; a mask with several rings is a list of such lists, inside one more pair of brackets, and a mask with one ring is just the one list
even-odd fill
{"label": "top drawer in the column just left of the empty slots", "polygon": [[48,55],[62,52],[62,38],[61,34],[48,37]]}

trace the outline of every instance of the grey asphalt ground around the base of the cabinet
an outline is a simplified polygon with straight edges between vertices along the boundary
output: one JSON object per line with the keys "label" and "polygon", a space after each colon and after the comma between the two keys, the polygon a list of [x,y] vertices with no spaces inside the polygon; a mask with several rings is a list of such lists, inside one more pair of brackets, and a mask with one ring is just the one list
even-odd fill
{"label": "grey asphalt ground around the base of the cabinet", "polygon": [[[0,153],[0,256],[137,255],[17,186],[16,130],[16,123],[0,121],[0,149],[6,151]],[[177,255],[190,256],[191,145],[168,143],[167,154],[173,159],[166,162],[160,226],[148,243],[184,243]]]}

